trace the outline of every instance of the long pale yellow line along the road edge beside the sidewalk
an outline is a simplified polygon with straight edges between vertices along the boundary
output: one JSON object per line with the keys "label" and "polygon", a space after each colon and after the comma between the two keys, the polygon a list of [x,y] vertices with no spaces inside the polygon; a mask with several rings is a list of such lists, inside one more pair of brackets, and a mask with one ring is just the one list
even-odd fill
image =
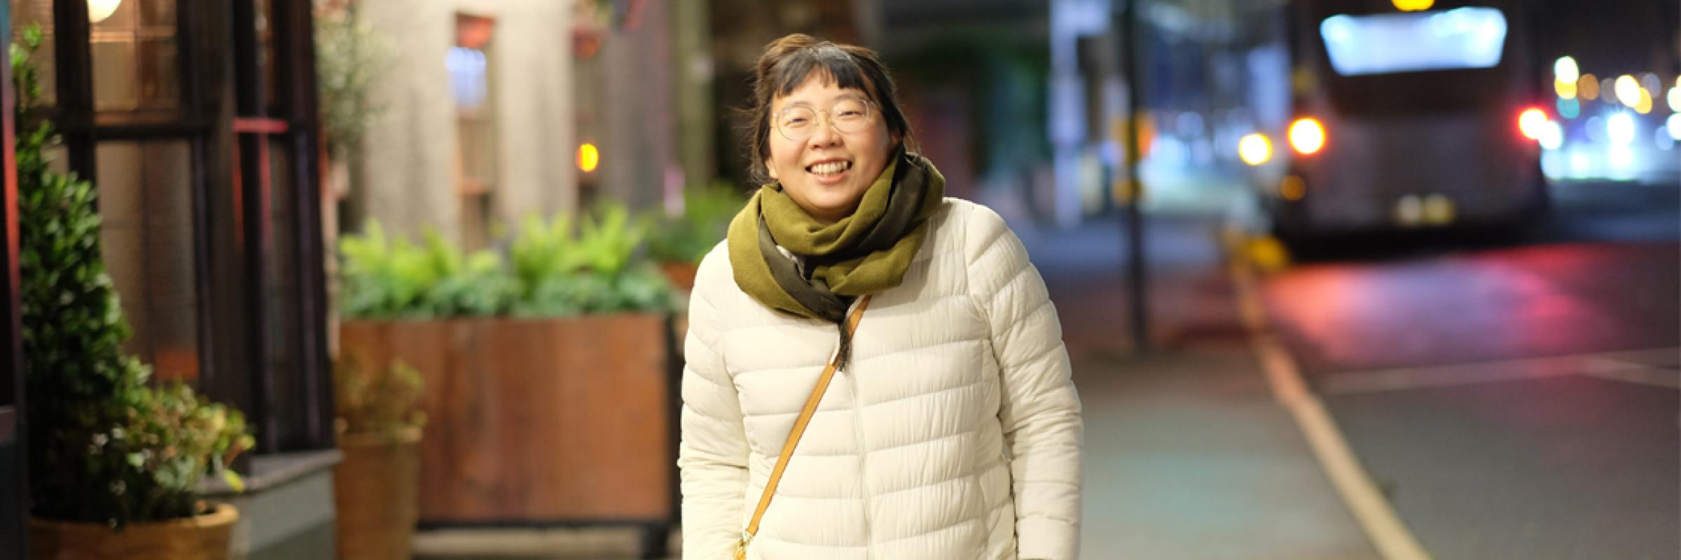
{"label": "long pale yellow line along the road edge beside the sidewalk", "polygon": [[1431,555],[1424,552],[1383,493],[1372,483],[1372,476],[1360,466],[1336,422],[1325,410],[1325,404],[1308,390],[1289,351],[1266,328],[1266,309],[1256,294],[1254,272],[1239,259],[1230,259],[1229,269],[1232,284],[1237,288],[1239,313],[1249,326],[1251,343],[1266,370],[1274,399],[1296,419],[1296,425],[1306,436],[1308,447],[1313,449],[1320,468],[1325,469],[1331,486],[1355,515],[1355,521],[1365,530],[1372,547],[1387,560],[1429,560]]}

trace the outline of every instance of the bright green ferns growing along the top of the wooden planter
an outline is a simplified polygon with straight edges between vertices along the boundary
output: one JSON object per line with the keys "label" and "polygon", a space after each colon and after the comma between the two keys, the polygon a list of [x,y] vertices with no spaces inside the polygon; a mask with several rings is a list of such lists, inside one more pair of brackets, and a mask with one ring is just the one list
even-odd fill
{"label": "bright green ferns growing along the top of the wooden planter", "polygon": [[662,311],[676,291],[639,257],[647,222],[624,205],[602,205],[577,220],[526,217],[506,242],[508,259],[462,256],[437,234],[424,246],[392,240],[378,222],[340,240],[345,314],[351,318],[518,318]]}

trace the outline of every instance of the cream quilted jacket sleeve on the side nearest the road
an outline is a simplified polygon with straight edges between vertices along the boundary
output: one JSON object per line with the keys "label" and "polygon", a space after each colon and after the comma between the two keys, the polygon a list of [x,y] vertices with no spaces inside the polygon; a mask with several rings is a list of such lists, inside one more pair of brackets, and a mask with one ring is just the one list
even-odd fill
{"label": "cream quilted jacket sleeve on the side nearest the road", "polygon": [[1078,558],[1084,427],[1056,308],[1027,249],[990,209],[973,207],[965,251],[1002,375],[1017,555]]}

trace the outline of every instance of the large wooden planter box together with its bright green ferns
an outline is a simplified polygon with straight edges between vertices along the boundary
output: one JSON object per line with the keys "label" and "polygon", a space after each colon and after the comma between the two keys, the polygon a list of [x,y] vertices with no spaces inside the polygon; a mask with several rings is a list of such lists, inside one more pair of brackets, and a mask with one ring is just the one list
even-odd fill
{"label": "large wooden planter box together with its bright green ferns", "polygon": [[410,244],[377,222],[341,239],[345,351],[425,380],[422,523],[674,516],[677,298],[642,257],[646,235],[603,205],[526,219],[503,252]]}

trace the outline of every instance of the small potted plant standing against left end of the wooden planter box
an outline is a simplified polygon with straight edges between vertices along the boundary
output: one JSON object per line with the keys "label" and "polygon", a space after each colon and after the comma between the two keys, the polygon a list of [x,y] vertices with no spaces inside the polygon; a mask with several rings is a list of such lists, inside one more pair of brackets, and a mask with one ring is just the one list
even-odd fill
{"label": "small potted plant standing against left end of the wooden planter box", "polygon": [[333,365],[338,449],[333,469],[338,557],[407,560],[420,491],[420,373],[395,362],[363,368],[355,355]]}

